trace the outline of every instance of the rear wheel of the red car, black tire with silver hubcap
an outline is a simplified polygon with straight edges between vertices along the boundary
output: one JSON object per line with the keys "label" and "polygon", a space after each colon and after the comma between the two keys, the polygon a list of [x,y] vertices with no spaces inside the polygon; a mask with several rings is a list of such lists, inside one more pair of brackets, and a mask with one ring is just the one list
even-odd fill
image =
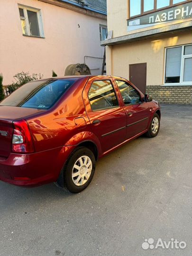
{"label": "rear wheel of the red car, black tire with silver hubcap", "polygon": [[79,193],[90,183],[95,172],[95,156],[87,147],[78,147],[64,165],[64,188]]}

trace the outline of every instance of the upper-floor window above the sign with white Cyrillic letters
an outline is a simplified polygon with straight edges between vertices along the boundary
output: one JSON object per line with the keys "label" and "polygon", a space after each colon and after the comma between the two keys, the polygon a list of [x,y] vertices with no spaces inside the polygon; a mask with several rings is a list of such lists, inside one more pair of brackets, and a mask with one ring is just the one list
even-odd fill
{"label": "upper-floor window above the sign with white Cyrillic letters", "polygon": [[129,18],[145,15],[191,0],[129,0]]}

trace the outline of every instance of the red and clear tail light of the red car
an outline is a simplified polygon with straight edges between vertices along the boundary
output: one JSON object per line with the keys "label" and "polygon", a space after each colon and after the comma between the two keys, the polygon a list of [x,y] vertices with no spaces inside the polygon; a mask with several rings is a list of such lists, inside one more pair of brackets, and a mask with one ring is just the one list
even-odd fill
{"label": "red and clear tail light of the red car", "polygon": [[33,153],[34,146],[27,121],[13,122],[12,151],[17,153]]}

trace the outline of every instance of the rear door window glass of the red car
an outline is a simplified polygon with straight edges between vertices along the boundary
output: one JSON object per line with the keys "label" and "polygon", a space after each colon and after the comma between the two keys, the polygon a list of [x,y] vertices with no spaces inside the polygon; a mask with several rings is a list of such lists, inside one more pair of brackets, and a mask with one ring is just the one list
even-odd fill
{"label": "rear door window glass of the red car", "polygon": [[89,93],[91,110],[110,109],[119,106],[115,91],[110,80],[94,81]]}

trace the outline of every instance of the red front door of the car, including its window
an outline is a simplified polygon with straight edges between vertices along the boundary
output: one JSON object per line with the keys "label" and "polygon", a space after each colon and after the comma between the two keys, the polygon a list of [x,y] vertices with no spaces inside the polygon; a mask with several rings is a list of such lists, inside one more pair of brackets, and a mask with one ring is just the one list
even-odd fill
{"label": "red front door of the car, including its window", "polygon": [[147,129],[150,110],[148,104],[141,99],[141,94],[128,82],[116,80],[127,115],[127,139],[137,136]]}

